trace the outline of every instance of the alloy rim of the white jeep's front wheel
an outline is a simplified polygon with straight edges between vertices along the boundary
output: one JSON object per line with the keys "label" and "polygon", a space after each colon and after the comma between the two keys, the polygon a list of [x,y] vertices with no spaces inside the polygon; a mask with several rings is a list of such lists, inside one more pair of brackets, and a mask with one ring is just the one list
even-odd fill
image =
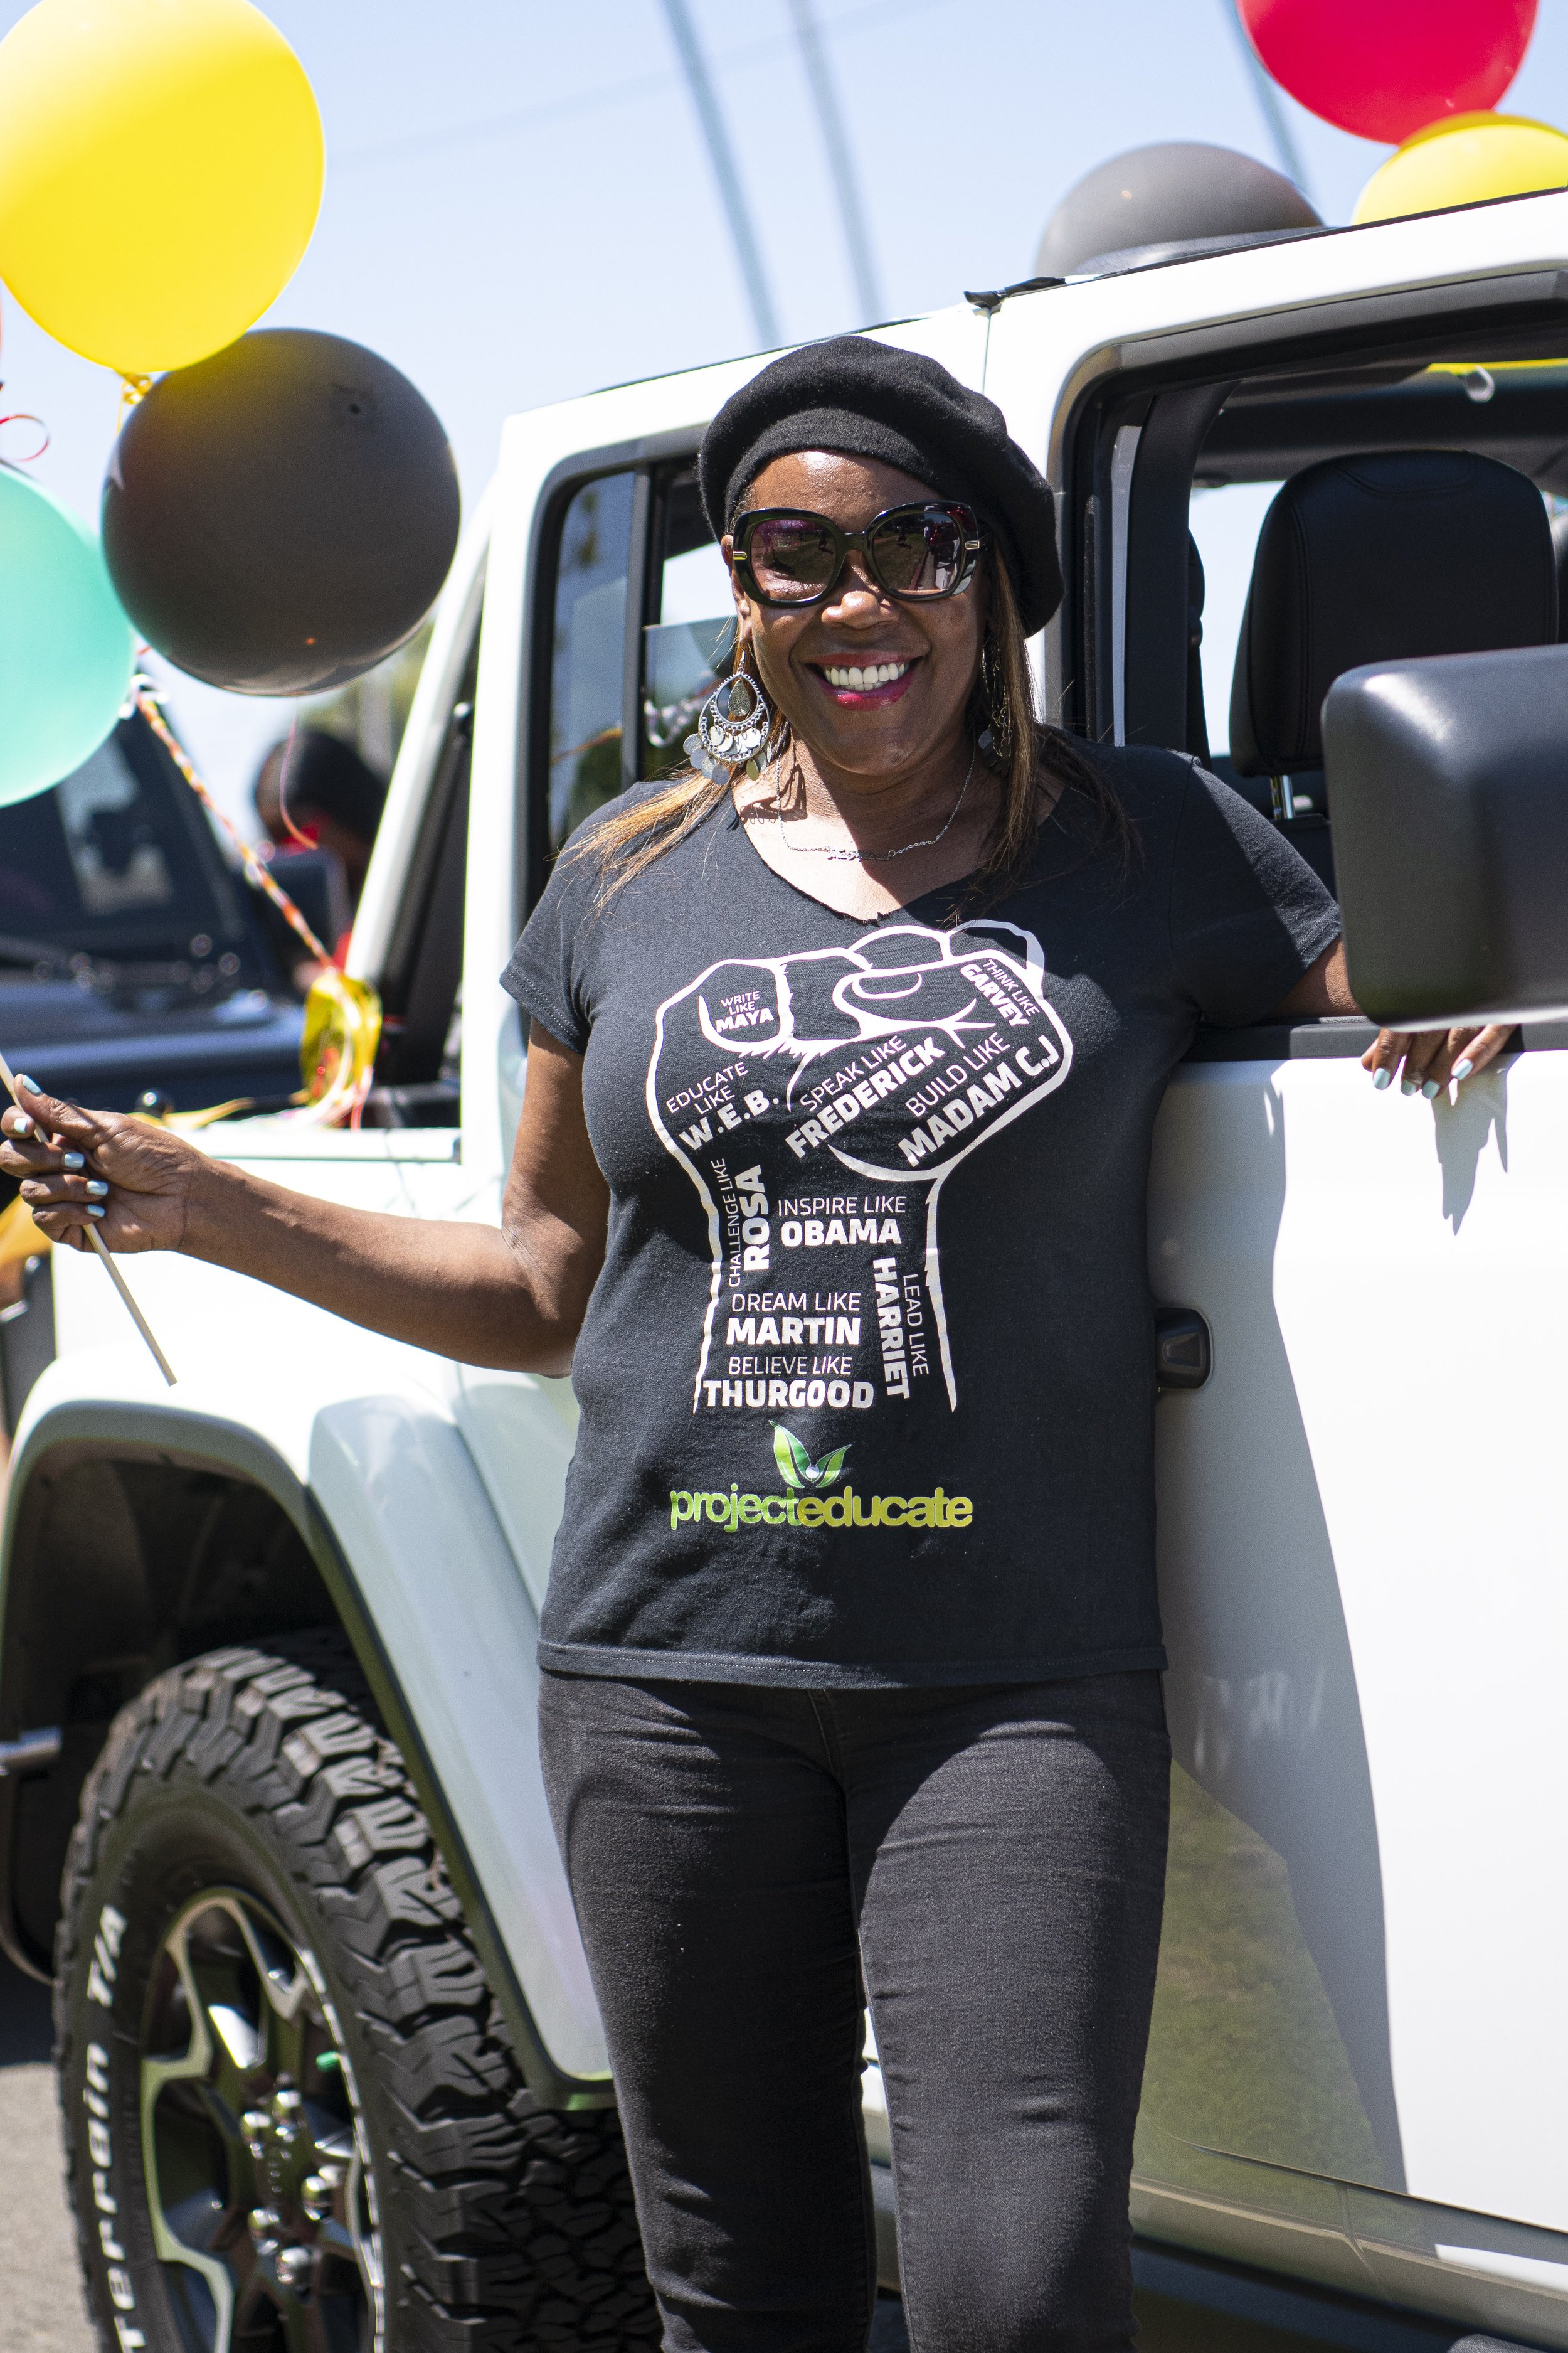
{"label": "alloy rim of the white jeep's front wheel", "polygon": [[148,1988],[141,2148],[190,2353],[383,2353],[376,2177],[315,1955],[237,1887],[169,1927]]}

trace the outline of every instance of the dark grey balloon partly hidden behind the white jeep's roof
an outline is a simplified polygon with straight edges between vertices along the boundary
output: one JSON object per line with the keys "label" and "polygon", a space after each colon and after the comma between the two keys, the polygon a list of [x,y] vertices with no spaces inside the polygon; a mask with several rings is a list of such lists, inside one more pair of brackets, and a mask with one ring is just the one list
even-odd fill
{"label": "dark grey balloon partly hidden behind the white jeep's roof", "polygon": [[1295,181],[1255,155],[1161,139],[1112,155],[1067,188],[1039,240],[1041,278],[1067,278],[1088,261],[1133,245],[1234,238],[1279,228],[1321,228]]}

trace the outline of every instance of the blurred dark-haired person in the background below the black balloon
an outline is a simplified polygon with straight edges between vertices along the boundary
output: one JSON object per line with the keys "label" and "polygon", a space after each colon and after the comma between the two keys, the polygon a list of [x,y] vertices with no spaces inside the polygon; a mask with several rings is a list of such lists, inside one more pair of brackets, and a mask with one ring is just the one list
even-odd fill
{"label": "blurred dark-haired person in the background below the black balloon", "polygon": [[[343,736],[327,727],[299,727],[273,744],[256,769],[252,798],[275,845],[275,880],[289,896],[308,901],[306,918],[331,941],[334,962],[341,962],[376,847],[386,781]],[[303,859],[310,864],[301,864]],[[320,967],[301,958],[296,932],[270,899],[261,901],[261,920],[282,969],[303,995]]]}

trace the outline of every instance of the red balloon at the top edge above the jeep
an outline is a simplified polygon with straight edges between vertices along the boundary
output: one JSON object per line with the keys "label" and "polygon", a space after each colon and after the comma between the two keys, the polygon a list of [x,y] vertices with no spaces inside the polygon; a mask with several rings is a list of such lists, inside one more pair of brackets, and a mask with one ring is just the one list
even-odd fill
{"label": "red balloon at the top edge above the jeep", "polygon": [[1314,115],[1399,144],[1497,104],[1535,0],[1237,0],[1274,80]]}

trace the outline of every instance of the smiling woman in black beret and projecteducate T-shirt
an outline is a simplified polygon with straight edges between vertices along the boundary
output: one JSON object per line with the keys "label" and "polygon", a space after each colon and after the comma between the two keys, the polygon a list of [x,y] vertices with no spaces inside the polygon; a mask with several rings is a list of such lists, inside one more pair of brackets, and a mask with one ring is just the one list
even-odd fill
{"label": "smiling woman in black beret and projecteducate T-shirt", "polygon": [[[501,1231],[35,1092],[0,1162],[56,1240],[574,1369],[541,1729],[665,2344],[865,2344],[870,2000],[914,2346],[1128,2346],[1150,1129],[1199,1016],[1354,1009],[1338,918],[1192,762],[1037,727],[1051,492],[931,360],[778,360],[701,478],[745,685],[517,946]],[[1368,1061],[1436,1092],[1500,1042]]]}

